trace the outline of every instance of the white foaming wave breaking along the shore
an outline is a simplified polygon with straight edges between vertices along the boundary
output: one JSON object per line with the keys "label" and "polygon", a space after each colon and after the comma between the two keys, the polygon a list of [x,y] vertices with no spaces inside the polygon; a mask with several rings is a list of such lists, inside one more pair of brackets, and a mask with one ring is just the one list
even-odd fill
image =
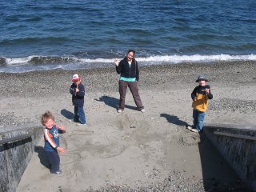
{"label": "white foaming wave breaking along the shore", "polygon": [[[32,70],[76,70],[87,68],[108,67],[114,65],[115,58],[76,58],[59,56],[29,56],[24,58],[0,58],[0,72],[27,72]],[[118,58],[121,60],[122,58]],[[155,55],[138,57],[140,66],[177,64],[181,62],[229,62],[229,61],[256,61],[255,54],[248,55]]]}

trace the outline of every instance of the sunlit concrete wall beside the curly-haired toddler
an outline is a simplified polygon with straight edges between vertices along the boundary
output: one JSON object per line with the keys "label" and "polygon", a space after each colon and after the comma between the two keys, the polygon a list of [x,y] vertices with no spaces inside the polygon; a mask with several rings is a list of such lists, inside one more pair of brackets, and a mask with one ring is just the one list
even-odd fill
{"label": "sunlit concrete wall beside the curly-haired toddler", "polygon": [[42,126],[28,125],[0,130],[0,141],[22,134],[30,137],[0,145],[0,191],[16,191],[26,166],[34,152],[34,146],[42,139]]}

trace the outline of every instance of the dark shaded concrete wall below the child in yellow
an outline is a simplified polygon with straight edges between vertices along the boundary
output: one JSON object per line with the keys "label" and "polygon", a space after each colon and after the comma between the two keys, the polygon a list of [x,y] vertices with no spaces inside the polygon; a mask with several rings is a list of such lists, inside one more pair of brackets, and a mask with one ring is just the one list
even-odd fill
{"label": "dark shaded concrete wall below the child in yellow", "polygon": [[203,132],[250,190],[256,191],[256,126],[205,124]]}

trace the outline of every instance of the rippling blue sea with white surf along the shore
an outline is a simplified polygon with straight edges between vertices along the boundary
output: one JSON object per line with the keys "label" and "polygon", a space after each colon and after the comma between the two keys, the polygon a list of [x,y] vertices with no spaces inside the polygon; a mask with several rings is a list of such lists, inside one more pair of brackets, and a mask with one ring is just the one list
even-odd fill
{"label": "rippling blue sea with white surf along the shore", "polygon": [[0,1],[0,72],[256,60],[255,0]]}

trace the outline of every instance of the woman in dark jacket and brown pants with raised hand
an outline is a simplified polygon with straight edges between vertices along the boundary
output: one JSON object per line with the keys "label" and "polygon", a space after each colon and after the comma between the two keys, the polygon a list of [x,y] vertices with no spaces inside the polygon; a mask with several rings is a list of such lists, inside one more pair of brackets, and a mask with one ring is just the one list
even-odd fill
{"label": "woman in dark jacket and brown pants with raised hand", "polygon": [[120,62],[118,62],[117,59],[114,61],[117,73],[120,74],[120,101],[118,106],[118,113],[121,113],[125,109],[127,86],[129,86],[130,92],[133,94],[134,102],[138,110],[140,110],[142,113],[145,112],[144,106],[142,105],[142,100],[138,94],[139,70],[138,62],[135,60],[134,55],[134,50],[128,50],[127,55],[124,59],[122,59]]}

